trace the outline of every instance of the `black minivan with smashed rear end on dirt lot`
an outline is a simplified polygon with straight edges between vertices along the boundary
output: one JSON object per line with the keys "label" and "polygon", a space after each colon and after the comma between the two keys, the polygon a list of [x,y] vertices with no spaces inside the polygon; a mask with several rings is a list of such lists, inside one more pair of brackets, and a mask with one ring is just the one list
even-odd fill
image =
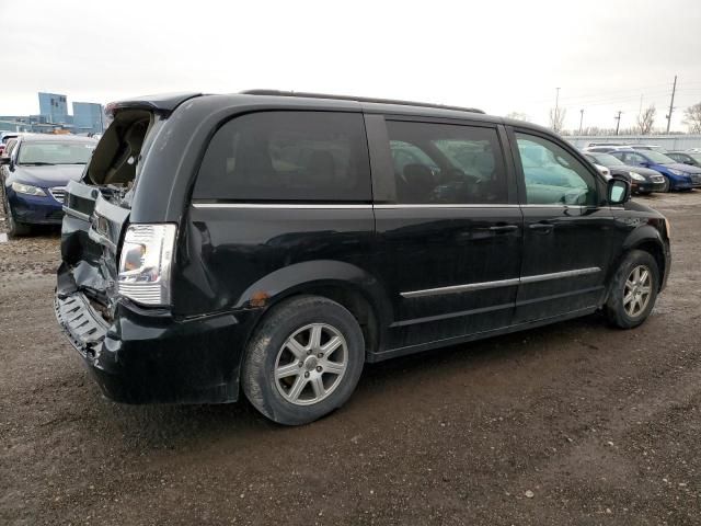
{"label": "black minivan with smashed rear end on dirt lot", "polygon": [[366,362],[602,310],[632,328],[669,227],[551,132],[252,91],[114,103],[66,192],[55,309],[110,398],[311,422]]}

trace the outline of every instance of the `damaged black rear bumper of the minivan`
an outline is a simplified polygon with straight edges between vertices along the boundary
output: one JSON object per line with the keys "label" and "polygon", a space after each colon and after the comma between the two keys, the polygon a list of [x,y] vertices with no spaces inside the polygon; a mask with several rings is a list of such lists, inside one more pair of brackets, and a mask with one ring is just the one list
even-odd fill
{"label": "damaged black rear bumper of the minivan", "polygon": [[70,282],[61,265],[56,318],[105,396],[124,403],[238,399],[250,312],[179,320],[163,310],[119,301],[114,321],[107,322]]}

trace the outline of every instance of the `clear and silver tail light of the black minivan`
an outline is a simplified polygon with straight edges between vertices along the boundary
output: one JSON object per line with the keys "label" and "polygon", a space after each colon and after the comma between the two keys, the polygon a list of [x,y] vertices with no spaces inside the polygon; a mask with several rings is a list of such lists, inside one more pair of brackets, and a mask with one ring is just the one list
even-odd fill
{"label": "clear and silver tail light of the black minivan", "polygon": [[130,225],[117,276],[119,294],[138,304],[169,305],[175,225]]}

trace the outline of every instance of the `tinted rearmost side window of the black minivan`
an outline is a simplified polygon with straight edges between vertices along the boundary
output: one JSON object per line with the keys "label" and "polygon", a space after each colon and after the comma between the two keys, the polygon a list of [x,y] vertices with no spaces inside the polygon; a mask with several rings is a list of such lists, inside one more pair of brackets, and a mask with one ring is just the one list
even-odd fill
{"label": "tinted rearmost side window of the black minivan", "polygon": [[369,202],[360,114],[264,112],[237,117],[212,137],[195,199]]}

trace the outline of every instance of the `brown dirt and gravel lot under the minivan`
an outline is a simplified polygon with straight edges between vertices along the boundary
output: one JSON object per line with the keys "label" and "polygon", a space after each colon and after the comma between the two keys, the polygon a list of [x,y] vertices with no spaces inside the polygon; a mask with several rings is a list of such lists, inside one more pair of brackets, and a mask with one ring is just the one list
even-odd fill
{"label": "brown dirt and gravel lot under the minivan", "polygon": [[674,271],[642,328],[367,367],[300,428],[105,400],[54,319],[57,232],[0,242],[0,524],[701,524],[701,192],[643,201]]}

